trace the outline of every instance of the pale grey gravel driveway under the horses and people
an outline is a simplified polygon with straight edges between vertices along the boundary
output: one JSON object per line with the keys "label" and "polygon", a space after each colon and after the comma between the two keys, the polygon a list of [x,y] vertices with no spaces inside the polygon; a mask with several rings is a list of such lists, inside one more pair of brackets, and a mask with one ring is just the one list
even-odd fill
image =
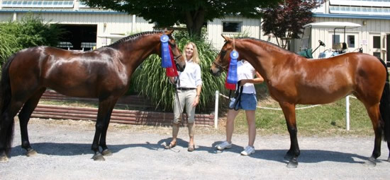
{"label": "pale grey gravel driveway under the horses and people", "polygon": [[31,119],[30,142],[39,152],[26,157],[21,149],[16,121],[9,162],[0,163],[0,179],[389,179],[389,150],[382,143],[377,167],[364,167],[371,155],[373,138],[299,137],[301,156],[297,169],[286,168],[283,157],[288,136],[257,136],[257,151],[240,155],[246,135],[233,136],[235,145],[217,152],[224,139],[213,128],[197,128],[196,150],[187,152],[188,131],[181,128],[177,147],[169,143],[169,127],[110,124],[108,148],[112,156],[104,162],[91,160],[94,123],[88,121]]}

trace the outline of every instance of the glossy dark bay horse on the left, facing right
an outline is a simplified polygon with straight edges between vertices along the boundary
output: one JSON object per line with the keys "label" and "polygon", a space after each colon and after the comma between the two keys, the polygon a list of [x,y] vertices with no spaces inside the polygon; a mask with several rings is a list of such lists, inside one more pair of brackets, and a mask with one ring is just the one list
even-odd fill
{"label": "glossy dark bay horse on the left, facing right", "polygon": [[128,90],[135,68],[150,54],[161,56],[162,35],[168,35],[176,66],[179,71],[184,70],[185,61],[172,32],[141,32],[91,52],[31,47],[13,54],[1,72],[0,162],[8,161],[13,117],[20,109],[21,147],[27,150],[27,156],[37,153],[28,140],[27,124],[46,88],[67,96],[99,98],[91,149],[94,150],[94,160],[104,160],[103,155],[111,155],[106,145],[106,133],[113,107]]}

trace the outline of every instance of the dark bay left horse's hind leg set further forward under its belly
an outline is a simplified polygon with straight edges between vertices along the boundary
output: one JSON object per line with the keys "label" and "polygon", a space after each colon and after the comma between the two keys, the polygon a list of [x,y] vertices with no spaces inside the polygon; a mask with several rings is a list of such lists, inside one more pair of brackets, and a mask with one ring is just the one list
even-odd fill
{"label": "dark bay left horse's hind leg set further forward under its belly", "polygon": [[30,120],[30,116],[33,113],[35,107],[37,107],[37,104],[40,100],[40,97],[43,95],[43,92],[45,92],[46,88],[42,88],[35,92],[35,94],[30,97],[29,100],[27,100],[26,103],[24,103],[23,108],[21,109],[21,112],[19,112],[19,122],[21,126],[21,139],[22,139],[22,145],[21,147],[26,149],[26,155],[28,157],[36,155],[37,152],[31,148],[30,141],[28,140],[28,121]]}

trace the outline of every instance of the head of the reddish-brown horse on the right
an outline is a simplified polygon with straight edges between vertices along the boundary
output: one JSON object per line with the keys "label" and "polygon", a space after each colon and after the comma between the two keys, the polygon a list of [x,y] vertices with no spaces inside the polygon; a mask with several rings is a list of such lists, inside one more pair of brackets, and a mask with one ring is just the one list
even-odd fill
{"label": "head of the reddish-brown horse on the right", "polygon": [[222,71],[228,71],[230,52],[233,51],[233,39],[223,35],[222,37],[225,39],[225,44],[223,44],[221,52],[219,52],[210,68],[210,73],[213,74],[213,76],[221,76]]}

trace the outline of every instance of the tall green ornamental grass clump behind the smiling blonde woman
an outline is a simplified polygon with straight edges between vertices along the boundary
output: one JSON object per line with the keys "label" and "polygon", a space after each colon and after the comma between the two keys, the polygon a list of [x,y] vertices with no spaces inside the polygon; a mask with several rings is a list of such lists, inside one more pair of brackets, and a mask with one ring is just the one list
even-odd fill
{"label": "tall green ornamental grass clump behind the smiling blonde woman", "polygon": [[[226,94],[225,73],[220,77],[212,76],[209,73],[210,66],[216,59],[218,52],[204,38],[189,37],[183,32],[176,32],[175,40],[179,49],[183,49],[188,42],[194,42],[198,47],[203,85],[197,111],[211,112],[214,107],[216,90]],[[140,95],[148,97],[152,104],[155,104],[156,109],[165,111],[173,109],[174,85],[168,82],[165,68],[161,67],[159,56],[150,56],[146,59],[133,75],[133,80],[135,90],[140,92]]]}

